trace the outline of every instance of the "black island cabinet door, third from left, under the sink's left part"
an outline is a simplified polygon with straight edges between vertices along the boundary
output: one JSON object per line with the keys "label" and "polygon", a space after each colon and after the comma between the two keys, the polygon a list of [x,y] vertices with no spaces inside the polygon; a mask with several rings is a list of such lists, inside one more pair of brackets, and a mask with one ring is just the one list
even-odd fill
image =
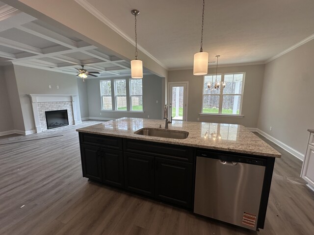
{"label": "black island cabinet door, third from left, under the sink's left part", "polygon": [[125,188],[142,195],[154,196],[154,157],[124,153]]}

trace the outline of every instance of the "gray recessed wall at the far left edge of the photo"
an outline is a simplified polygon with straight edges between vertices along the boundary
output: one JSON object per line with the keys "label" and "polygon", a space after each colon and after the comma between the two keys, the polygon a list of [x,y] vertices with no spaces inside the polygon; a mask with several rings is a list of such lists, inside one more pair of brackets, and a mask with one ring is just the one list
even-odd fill
{"label": "gray recessed wall at the far left edge of the photo", "polygon": [[0,135],[1,132],[14,130],[10,100],[4,73],[0,68]]}

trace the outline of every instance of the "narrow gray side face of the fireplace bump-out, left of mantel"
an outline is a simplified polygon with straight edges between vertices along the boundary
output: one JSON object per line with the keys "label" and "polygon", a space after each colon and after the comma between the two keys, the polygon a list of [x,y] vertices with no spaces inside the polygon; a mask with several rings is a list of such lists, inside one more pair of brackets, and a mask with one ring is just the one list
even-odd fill
{"label": "narrow gray side face of the fireplace bump-out, left of mantel", "polygon": [[19,98],[18,87],[16,83],[13,65],[2,67],[6,81],[7,93],[10,100],[10,107],[14,130],[25,131],[21,102]]}

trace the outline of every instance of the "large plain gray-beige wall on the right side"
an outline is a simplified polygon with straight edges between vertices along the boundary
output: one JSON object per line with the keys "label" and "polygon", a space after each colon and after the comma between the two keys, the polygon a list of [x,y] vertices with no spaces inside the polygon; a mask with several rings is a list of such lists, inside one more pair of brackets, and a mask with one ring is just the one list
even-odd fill
{"label": "large plain gray-beige wall on the right side", "polygon": [[[305,154],[314,128],[314,40],[265,65],[258,128]],[[269,127],[272,130],[269,131]]]}

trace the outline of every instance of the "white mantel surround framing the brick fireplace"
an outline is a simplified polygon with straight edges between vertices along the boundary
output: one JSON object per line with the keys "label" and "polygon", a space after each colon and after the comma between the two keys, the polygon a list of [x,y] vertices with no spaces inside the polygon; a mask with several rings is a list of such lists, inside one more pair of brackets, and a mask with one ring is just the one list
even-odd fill
{"label": "white mantel surround framing the brick fireplace", "polygon": [[38,103],[41,102],[71,102],[73,109],[74,125],[78,124],[77,110],[75,104],[76,94],[28,94],[31,99],[33,116],[35,121],[36,133],[42,132],[40,125],[40,117],[38,111]]}

